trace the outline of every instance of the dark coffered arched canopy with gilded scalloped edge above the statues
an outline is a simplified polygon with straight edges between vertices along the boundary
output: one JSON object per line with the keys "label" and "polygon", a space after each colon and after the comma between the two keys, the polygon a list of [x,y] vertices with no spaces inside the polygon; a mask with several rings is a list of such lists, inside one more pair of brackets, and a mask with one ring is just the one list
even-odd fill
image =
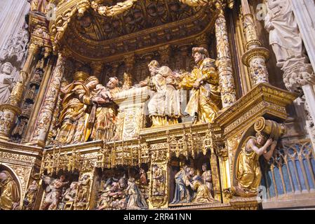
{"label": "dark coffered arched canopy with gilded scalloped edge above the statues", "polygon": [[213,29],[215,13],[208,5],[217,1],[229,0],[53,0],[57,9],[50,22],[51,41],[55,51],[85,62],[192,43]]}

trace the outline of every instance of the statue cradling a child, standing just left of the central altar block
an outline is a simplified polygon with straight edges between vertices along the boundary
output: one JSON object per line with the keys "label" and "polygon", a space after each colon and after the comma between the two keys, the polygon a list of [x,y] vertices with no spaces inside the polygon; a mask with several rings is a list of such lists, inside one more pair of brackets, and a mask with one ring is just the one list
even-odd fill
{"label": "statue cradling a child, standing just left of the central altar block", "polygon": [[95,124],[91,139],[110,141],[114,137],[116,130],[116,116],[118,106],[113,102],[112,94],[120,91],[119,80],[116,77],[109,78],[106,87],[98,85],[95,89],[96,99],[98,99],[98,109],[96,109]]}

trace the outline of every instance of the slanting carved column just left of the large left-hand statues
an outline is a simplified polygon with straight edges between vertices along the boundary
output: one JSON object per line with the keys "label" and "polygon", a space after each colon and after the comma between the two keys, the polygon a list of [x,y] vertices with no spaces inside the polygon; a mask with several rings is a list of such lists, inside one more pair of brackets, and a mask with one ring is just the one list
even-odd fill
{"label": "slanting carved column just left of the large left-hand statues", "polygon": [[51,82],[48,85],[48,90],[46,92],[46,96],[37,119],[36,127],[34,129],[34,134],[31,140],[32,145],[41,147],[45,146],[46,136],[51,125],[53,111],[55,110],[55,105],[58,100],[64,71],[65,57],[63,57],[59,52],[57,64],[53,71],[53,77],[51,78]]}

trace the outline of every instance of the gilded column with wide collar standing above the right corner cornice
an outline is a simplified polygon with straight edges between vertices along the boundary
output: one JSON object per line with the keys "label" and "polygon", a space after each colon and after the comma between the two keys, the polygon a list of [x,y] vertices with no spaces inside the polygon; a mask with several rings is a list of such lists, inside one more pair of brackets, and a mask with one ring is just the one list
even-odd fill
{"label": "gilded column with wide collar standing above the right corner cornice", "polygon": [[243,64],[250,67],[250,80],[253,86],[260,83],[269,83],[269,74],[266,61],[269,50],[262,47],[258,40],[253,14],[250,12],[248,0],[241,0],[243,13],[243,27],[246,36],[246,52],[243,55]]}

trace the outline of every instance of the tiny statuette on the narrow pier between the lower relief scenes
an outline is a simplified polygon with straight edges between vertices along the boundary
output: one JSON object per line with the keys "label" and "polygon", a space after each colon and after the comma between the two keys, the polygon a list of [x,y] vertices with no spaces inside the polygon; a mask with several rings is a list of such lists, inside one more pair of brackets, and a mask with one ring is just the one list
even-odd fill
{"label": "tiny statuette on the narrow pier between the lower relief scenes", "polygon": [[165,172],[163,167],[153,165],[152,167],[152,195],[164,196],[165,195]]}

